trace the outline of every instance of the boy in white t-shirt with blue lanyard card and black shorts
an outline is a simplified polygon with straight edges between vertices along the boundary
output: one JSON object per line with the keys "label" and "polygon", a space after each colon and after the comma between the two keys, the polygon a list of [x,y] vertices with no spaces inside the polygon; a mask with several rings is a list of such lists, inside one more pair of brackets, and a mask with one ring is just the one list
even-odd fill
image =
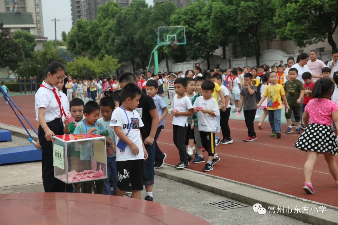
{"label": "boy in white t-shirt with blue lanyard card and black shorts", "polygon": [[141,198],[143,190],[143,163],[148,153],[142,141],[140,127],[144,126],[140,113],[135,111],[141,98],[141,89],[134,83],[124,86],[122,106],[114,110],[110,127],[116,135],[117,196],[124,196],[131,183],[132,198]]}

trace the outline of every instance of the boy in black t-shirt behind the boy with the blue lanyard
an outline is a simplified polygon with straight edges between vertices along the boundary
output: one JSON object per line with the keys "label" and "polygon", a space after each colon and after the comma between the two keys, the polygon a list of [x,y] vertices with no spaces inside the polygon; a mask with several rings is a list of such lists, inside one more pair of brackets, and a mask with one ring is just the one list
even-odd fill
{"label": "boy in black t-shirt behind the boy with the blue lanyard", "polygon": [[[134,83],[137,85],[136,77],[132,73],[123,73],[119,79],[120,87]],[[152,201],[152,188],[154,184],[154,163],[155,163],[155,145],[154,137],[159,126],[159,114],[156,110],[155,103],[149,95],[142,93],[139,105],[136,111],[140,113],[144,126],[140,128],[144,146],[148,152],[148,159],[144,161],[143,182],[146,189],[144,200]]]}

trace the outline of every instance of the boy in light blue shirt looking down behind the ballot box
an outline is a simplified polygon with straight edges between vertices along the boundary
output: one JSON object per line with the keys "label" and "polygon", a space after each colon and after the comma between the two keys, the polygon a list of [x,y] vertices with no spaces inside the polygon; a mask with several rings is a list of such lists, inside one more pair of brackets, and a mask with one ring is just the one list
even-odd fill
{"label": "boy in light blue shirt looking down behind the ballot box", "polygon": [[[100,106],[94,101],[87,102],[86,105],[84,105],[83,109],[84,117],[86,117],[85,120],[79,122],[74,130],[73,134],[86,134],[86,133],[92,133],[97,134],[101,136],[105,136],[105,129],[104,126],[97,122],[99,115],[100,115]],[[106,137],[106,144],[107,146],[113,145],[113,142]],[[90,144],[86,146],[81,146],[80,150],[80,171],[83,170],[90,170],[92,168],[91,165],[91,149]],[[95,168],[96,169],[96,168]],[[97,192],[98,194],[102,194],[103,192],[103,181],[96,181],[97,184]],[[92,193],[92,184],[91,182],[83,182],[80,184],[81,187],[81,193]]]}

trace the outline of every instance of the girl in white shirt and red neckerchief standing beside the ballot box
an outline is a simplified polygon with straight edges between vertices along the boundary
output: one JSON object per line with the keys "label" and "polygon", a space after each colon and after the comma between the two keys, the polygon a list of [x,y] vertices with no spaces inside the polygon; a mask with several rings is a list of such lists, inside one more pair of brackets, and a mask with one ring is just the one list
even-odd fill
{"label": "girl in white shirt and red neckerchief standing beside the ballot box", "polygon": [[45,192],[71,192],[73,187],[66,185],[54,177],[52,136],[63,135],[62,117],[66,117],[66,109],[61,104],[60,94],[56,86],[63,81],[64,66],[49,60],[46,78],[35,94],[35,114],[39,121],[38,138],[42,149],[42,182]]}

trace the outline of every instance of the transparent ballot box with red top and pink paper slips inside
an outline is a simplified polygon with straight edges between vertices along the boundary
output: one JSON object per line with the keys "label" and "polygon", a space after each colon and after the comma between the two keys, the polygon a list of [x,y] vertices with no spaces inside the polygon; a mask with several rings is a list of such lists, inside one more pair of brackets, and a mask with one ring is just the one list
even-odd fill
{"label": "transparent ballot box with red top and pink paper slips inside", "polygon": [[53,136],[55,178],[66,184],[107,178],[105,140],[96,134]]}

